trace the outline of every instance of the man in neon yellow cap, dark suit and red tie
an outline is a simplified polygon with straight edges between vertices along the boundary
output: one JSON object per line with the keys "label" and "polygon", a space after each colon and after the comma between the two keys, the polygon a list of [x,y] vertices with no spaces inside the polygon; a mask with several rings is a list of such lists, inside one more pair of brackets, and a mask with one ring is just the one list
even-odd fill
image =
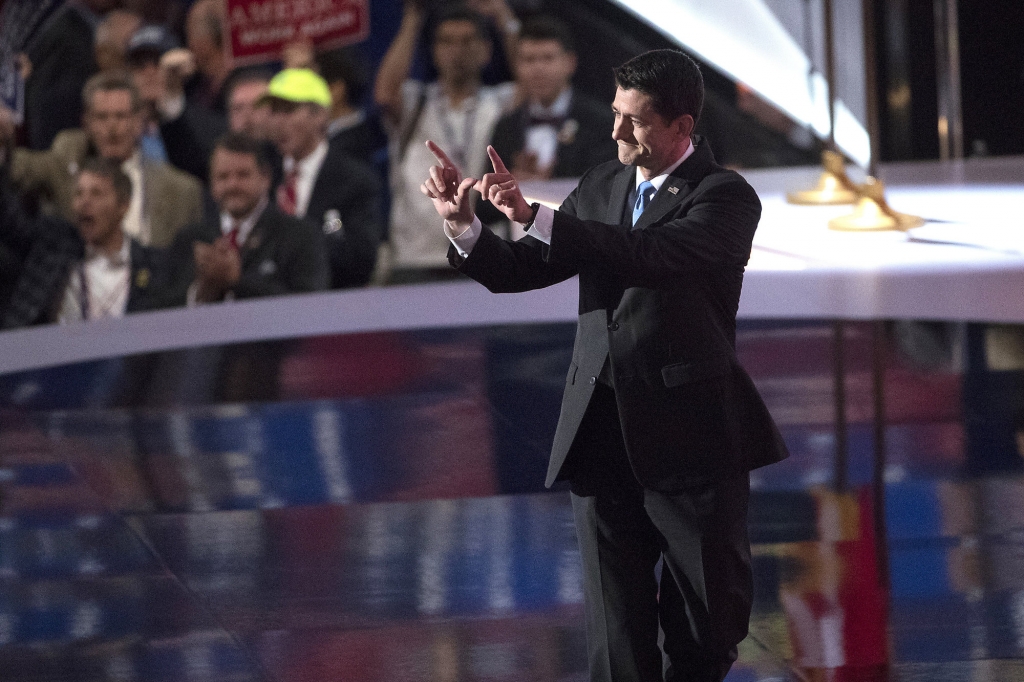
{"label": "man in neon yellow cap, dark suit and red tie", "polygon": [[263,101],[283,159],[278,208],[324,232],[333,289],[367,284],[383,232],[381,182],[373,168],[328,139],[327,83],[311,70],[285,69]]}

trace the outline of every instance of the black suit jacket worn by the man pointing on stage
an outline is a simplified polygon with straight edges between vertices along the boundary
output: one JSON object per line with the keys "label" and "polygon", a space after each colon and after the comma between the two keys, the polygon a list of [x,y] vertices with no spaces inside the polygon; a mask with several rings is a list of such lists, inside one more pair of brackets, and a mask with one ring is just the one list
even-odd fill
{"label": "black suit jacket worn by the man pointing on stage", "polygon": [[736,361],[743,268],[761,204],[707,142],[631,228],[636,168],[602,164],[555,213],[551,245],[486,228],[453,265],[494,292],[580,275],[580,322],[547,484],[564,477],[594,385],[609,363],[623,437],[644,486],[679,492],[776,462],[785,445]]}

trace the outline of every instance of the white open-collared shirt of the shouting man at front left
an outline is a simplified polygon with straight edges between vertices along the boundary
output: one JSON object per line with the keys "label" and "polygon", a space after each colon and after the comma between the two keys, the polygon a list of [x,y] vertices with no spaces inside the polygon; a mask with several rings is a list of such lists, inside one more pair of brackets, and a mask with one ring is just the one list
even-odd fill
{"label": "white open-collared shirt of the shouting man at front left", "polygon": [[85,258],[75,264],[68,279],[57,322],[67,325],[82,319],[121,317],[128,307],[130,291],[131,240],[125,237],[121,250],[114,255],[86,246]]}

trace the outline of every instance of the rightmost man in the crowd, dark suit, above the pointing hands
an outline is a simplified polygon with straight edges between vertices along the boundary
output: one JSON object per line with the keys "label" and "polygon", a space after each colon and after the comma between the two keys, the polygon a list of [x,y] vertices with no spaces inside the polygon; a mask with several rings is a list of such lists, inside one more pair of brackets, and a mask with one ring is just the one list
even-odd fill
{"label": "rightmost man in the crowd, dark suit, above the pointing hands", "polygon": [[522,25],[515,69],[525,101],[498,121],[490,138],[516,179],[580,177],[615,158],[611,112],[572,89],[575,68],[572,36],[560,22],[538,16]]}

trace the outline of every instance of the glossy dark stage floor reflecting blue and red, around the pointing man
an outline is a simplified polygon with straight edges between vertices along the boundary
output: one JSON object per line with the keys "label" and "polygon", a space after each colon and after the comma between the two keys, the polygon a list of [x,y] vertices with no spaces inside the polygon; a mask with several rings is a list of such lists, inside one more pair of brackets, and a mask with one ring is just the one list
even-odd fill
{"label": "glossy dark stage floor reflecting blue and red, around the pointing man", "polygon": [[[1024,679],[1024,374],[982,327],[889,326],[880,565],[870,330],[845,328],[838,492],[831,324],[740,325],[793,457],[752,476],[755,613],[728,680]],[[572,334],[0,377],[0,680],[586,679],[568,494],[542,487]]]}

